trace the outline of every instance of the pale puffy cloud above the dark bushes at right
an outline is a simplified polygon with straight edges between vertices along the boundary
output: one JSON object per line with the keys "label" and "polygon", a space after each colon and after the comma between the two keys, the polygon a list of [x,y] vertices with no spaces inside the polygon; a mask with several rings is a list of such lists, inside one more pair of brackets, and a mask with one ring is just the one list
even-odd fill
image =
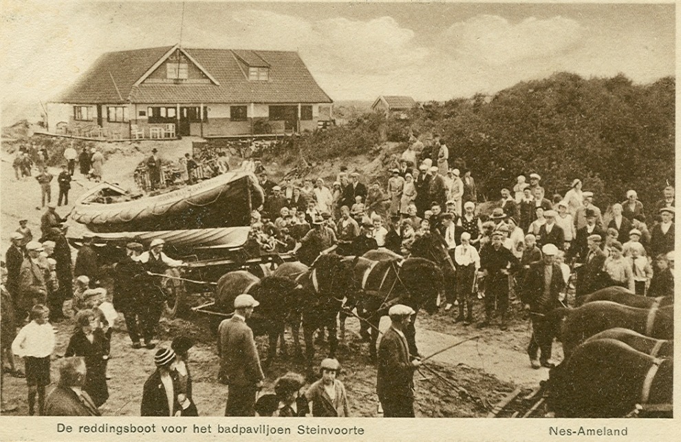
{"label": "pale puffy cloud above the dark bushes at right", "polygon": [[442,48],[457,57],[504,65],[556,56],[574,48],[582,34],[577,21],[563,17],[529,17],[514,24],[496,15],[479,15],[446,29]]}

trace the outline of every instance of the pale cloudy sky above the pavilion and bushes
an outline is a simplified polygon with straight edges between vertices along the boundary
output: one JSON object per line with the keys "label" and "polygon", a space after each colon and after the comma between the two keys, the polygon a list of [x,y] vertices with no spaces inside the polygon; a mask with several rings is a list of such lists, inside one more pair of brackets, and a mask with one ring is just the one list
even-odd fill
{"label": "pale cloudy sky above the pavilion and bushes", "polygon": [[335,101],[444,101],[559,71],[636,83],[675,73],[673,3],[0,1],[3,125],[104,52],[178,42],[295,50]]}

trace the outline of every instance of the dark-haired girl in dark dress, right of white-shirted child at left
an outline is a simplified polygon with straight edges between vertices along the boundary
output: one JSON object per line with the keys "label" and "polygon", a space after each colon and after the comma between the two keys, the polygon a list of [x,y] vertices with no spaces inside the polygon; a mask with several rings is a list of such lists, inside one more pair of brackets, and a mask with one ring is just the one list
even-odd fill
{"label": "dark-haired girl in dark dress, right of white-shirted child at left", "polygon": [[107,359],[111,343],[104,331],[96,326],[95,314],[90,309],[81,310],[76,315],[74,334],[69,339],[65,357],[85,357],[87,375],[83,390],[100,407],[109,399],[107,388]]}

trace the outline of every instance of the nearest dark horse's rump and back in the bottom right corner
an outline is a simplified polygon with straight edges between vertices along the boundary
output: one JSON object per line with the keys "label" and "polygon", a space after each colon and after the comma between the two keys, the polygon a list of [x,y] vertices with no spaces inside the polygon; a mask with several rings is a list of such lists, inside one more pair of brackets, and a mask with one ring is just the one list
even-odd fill
{"label": "nearest dark horse's rump and back in the bottom right corner", "polygon": [[556,417],[624,417],[637,403],[671,403],[673,359],[616,339],[585,342],[549,372],[548,409]]}

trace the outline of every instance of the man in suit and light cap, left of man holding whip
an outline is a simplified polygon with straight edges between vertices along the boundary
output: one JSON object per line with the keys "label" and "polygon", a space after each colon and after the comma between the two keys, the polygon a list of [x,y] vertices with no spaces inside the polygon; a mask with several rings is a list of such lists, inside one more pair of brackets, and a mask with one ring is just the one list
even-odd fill
{"label": "man in suit and light cap, left of man holding whip", "polygon": [[255,416],[255,397],[265,376],[246,319],[259,304],[251,295],[237,296],[233,317],[217,329],[218,379],[229,386],[225,416]]}

